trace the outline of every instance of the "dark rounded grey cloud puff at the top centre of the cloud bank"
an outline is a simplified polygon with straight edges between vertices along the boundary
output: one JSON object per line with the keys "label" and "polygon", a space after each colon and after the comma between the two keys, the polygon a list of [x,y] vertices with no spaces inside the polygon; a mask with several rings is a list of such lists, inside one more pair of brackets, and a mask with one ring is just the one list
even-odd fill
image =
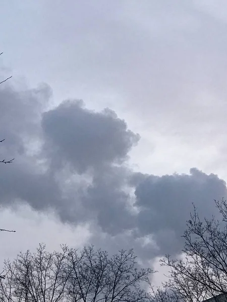
{"label": "dark rounded grey cloud puff at the top centre of the cloud bank", "polygon": [[66,101],[44,113],[42,127],[46,152],[54,165],[70,162],[78,173],[122,164],[139,140],[114,111],[94,112],[81,101]]}

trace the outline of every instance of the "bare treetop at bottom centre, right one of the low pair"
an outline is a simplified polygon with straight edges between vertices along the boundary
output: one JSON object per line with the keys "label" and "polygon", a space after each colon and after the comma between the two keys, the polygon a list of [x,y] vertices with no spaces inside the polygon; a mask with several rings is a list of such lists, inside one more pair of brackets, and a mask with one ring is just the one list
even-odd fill
{"label": "bare treetop at bottom centre, right one of the low pair", "polygon": [[108,258],[107,252],[84,248],[70,250],[72,271],[67,282],[70,302],[137,302],[148,298],[141,282],[148,282],[151,269],[138,269],[133,250]]}

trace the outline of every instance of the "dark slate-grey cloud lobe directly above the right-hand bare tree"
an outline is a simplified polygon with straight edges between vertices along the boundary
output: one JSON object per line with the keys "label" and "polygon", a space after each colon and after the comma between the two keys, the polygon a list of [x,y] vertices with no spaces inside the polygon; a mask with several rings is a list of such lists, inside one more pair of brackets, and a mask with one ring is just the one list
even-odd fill
{"label": "dark slate-grey cloud lobe directly above the right-hand bare tree", "polygon": [[[184,246],[181,236],[190,212],[193,212],[192,203],[201,219],[211,218],[212,215],[218,218],[214,199],[227,197],[226,183],[222,179],[196,168],[190,169],[189,174],[155,176],[131,173],[127,177],[128,183],[135,190],[134,206],[138,210],[137,214],[131,213],[131,225],[128,225],[127,230],[126,223],[121,224],[122,213],[112,211],[114,217],[109,219],[107,214],[105,224],[99,223],[99,232],[94,233],[92,240],[111,250],[133,246],[145,265],[146,261],[155,256],[180,253]],[[112,187],[108,190],[114,191]],[[111,204],[107,206],[111,209]],[[114,234],[108,230],[113,219],[116,224]],[[103,236],[100,236],[100,230],[105,231]]]}

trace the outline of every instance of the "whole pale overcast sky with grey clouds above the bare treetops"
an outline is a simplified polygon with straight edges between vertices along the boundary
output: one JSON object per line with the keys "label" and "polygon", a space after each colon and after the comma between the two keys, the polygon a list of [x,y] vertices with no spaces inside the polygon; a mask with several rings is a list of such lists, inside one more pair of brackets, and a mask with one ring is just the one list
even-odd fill
{"label": "whole pale overcast sky with grey clouds above the bare treetops", "polygon": [[[226,194],[227,3],[2,1],[0,260],[59,244],[178,255]],[[161,280],[161,274],[157,278]]]}

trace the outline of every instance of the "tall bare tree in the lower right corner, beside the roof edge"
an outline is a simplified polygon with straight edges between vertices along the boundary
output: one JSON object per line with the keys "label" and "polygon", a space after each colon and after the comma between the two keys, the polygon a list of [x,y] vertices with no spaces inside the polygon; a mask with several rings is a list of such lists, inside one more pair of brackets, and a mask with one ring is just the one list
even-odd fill
{"label": "tall bare tree in the lower right corner, beside the roof edge", "polygon": [[169,268],[165,286],[188,302],[227,294],[227,205],[223,199],[215,204],[221,221],[214,217],[201,220],[194,207],[183,235],[183,257],[166,255],[161,260]]}

